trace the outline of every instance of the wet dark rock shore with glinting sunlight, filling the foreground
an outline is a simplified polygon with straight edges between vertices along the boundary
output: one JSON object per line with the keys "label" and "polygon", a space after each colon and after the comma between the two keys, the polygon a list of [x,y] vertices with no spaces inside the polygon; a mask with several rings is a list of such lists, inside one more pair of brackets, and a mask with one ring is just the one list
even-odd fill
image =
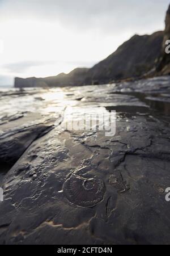
{"label": "wet dark rock shore with glinting sunlight, filling the foreground", "polygon": [[[0,244],[170,243],[169,77],[0,95]],[[116,135],[60,128],[69,106]]]}

